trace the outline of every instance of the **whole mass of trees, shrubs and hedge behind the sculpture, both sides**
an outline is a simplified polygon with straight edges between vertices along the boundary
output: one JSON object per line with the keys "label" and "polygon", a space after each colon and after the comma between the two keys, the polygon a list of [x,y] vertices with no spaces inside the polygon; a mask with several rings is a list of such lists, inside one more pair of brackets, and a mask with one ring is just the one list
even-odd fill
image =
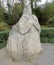
{"label": "whole mass of trees, shrubs and hedge behind the sculpture, both sides", "polygon": [[[23,2],[20,4],[15,3],[14,6],[11,6],[10,3],[8,3],[8,11],[0,5],[0,48],[6,46],[10,29],[22,16],[22,5]],[[54,43],[54,2],[46,3],[44,8],[39,6],[33,8],[33,0],[31,0],[31,5],[32,13],[38,17],[39,23],[42,27],[40,35],[41,42]]]}

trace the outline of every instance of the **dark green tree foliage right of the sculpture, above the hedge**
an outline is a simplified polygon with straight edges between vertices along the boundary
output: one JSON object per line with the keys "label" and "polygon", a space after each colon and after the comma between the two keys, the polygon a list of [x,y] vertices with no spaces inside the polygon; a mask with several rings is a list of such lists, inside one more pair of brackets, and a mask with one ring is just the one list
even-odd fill
{"label": "dark green tree foliage right of the sculpture, above the hedge", "polygon": [[[41,25],[48,25],[48,22],[51,21],[51,18],[54,17],[54,2],[47,3],[44,9],[40,7],[34,8],[33,13],[37,15]],[[53,24],[52,21],[50,23]]]}

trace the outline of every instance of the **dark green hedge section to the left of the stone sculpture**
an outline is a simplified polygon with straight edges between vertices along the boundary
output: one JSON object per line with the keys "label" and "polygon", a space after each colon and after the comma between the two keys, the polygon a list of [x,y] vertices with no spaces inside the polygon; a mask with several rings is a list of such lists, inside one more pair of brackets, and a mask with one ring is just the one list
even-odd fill
{"label": "dark green hedge section to the left of the stone sculpture", "polygon": [[0,49],[6,46],[8,35],[9,35],[9,31],[0,32]]}

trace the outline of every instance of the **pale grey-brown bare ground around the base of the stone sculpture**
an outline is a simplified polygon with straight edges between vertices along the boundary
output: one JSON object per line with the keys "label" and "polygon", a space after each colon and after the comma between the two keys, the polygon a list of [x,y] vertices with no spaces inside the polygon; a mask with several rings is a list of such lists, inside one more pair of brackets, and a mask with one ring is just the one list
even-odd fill
{"label": "pale grey-brown bare ground around the base of the stone sculpture", "polygon": [[6,48],[0,50],[0,65],[54,65],[54,44],[42,44],[43,52],[38,59],[28,61],[12,61]]}

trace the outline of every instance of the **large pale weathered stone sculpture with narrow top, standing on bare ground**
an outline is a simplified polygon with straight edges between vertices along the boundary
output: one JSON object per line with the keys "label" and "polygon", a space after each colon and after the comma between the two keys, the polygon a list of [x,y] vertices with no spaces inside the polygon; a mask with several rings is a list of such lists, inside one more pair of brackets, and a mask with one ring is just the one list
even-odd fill
{"label": "large pale weathered stone sculpture with narrow top, standing on bare ground", "polygon": [[40,31],[38,19],[32,14],[30,1],[24,0],[23,15],[13,26],[7,41],[7,50],[12,59],[23,60],[40,53]]}

